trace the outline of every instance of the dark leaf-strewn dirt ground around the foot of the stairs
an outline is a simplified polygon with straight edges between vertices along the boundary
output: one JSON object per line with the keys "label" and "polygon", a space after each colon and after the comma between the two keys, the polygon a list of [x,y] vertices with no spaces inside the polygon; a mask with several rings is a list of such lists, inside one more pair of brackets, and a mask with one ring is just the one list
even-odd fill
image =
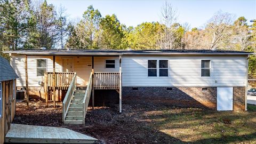
{"label": "dark leaf-strewn dirt ground around the foot of the stairs", "polygon": [[44,102],[30,102],[29,109],[25,103],[17,103],[17,111],[13,123],[41,126],[66,127],[99,139],[98,143],[170,143],[178,141],[158,130],[151,129],[141,115],[145,109],[153,110],[153,106],[123,105],[123,113],[119,114],[118,105],[113,107],[89,107],[85,117],[85,125],[65,125],[62,123],[62,109],[45,108]]}

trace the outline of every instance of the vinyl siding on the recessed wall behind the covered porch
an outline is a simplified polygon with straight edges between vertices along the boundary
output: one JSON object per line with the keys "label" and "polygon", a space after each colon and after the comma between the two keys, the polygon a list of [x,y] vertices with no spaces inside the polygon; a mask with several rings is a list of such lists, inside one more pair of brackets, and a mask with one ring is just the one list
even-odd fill
{"label": "vinyl siding on the recessed wall behind the covered porch", "polygon": [[[92,57],[55,57],[55,71],[62,72],[62,58],[73,59],[73,71],[77,73],[78,86],[87,85],[92,71]],[[39,86],[44,81],[43,76],[36,76],[36,60],[47,59],[47,71],[53,71],[53,57],[28,56],[28,86]],[[105,68],[105,60],[115,60],[115,68]],[[19,76],[17,86],[26,86],[25,56],[13,55],[13,69]],[[119,57],[94,57],[94,72],[119,72]]]}

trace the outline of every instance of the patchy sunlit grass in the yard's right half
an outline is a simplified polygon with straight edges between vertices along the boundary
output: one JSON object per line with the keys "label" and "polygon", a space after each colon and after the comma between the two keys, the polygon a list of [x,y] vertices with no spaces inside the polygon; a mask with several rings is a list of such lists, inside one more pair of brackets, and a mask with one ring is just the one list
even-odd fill
{"label": "patchy sunlit grass in the yard's right half", "polygon": [[256,106],[246,112],[211,111],[196,108],[163,109],[146,113],[151,127],[182,142],[256,143]]}

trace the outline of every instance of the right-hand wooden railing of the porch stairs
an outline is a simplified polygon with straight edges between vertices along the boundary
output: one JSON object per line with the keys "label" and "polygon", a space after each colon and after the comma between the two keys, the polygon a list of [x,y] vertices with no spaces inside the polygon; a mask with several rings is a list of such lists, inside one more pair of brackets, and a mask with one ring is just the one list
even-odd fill
{"label": "right-hand wooden railing of the porch stairs", "polygon": [[84,100],[83,100],[83,124],[85,124],[85,115],[86,115],[86,111],[89,105],[89,101],[90,101],[90,97],[91,97],[91,92],[92,92],[92,75],[93,73],[91,72],[90,74],[90,78],[88,81],[88,85],[84,94]]}

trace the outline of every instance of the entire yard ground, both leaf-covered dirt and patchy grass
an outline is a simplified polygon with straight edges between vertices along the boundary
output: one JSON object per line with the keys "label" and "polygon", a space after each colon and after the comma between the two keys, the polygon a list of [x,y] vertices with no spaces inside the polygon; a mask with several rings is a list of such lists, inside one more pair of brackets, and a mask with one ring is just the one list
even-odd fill
{"label": "entire yard ground, both leaf-covered dirt and patchy grass", "polygon": [[212,111],[152,105],[89,109],[85,125],[64,125],[61,108],[43,102],[17,103],[13,123],[67,127],[99,139],[98,143],[256,143],[256,106],[248,111]]}

